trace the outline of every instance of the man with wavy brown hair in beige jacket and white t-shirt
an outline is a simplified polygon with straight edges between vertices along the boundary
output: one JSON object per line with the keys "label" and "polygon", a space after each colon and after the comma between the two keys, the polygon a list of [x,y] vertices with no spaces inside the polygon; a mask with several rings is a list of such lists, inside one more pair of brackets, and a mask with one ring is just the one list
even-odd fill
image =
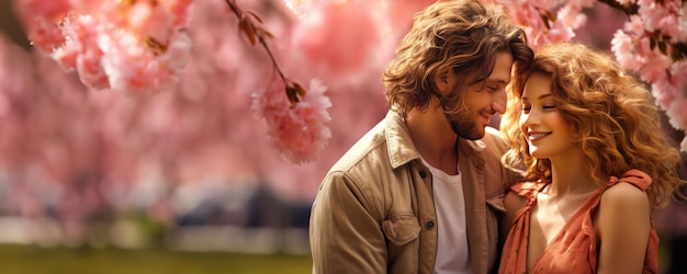
{"label": "man with wavy brown hair in beige jacket and white t-shirt", "polygon": [[516,175],[488,127],[523,32],[478,1],[437,2],[415,18],[384,72],[386,117],[331,168],[311,215],[313,273],[489,273]]}

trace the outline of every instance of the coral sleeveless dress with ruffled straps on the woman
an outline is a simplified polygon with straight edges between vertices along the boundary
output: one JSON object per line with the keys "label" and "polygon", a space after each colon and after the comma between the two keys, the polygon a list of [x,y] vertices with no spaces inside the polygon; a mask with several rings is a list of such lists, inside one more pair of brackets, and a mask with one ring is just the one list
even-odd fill
{"label": "coral sleeveless dress with ruffled straps on the woman", "polygon": [[[651,178],[639,170],[630,170],[618,179],[611,176],[606,186],[592,195],[561,228],[555,238],[544,249],[530,273],[596,273],[598,246],[592,224],[592,214],[599,206],[601,194],[618,182],[627,182],[645,191]],[[530,212],[537,202],[537,193],[548,183],[519,183],[511,187],[520,196],[528,198],[525,207],[516,213],[513,227],[504,246],[498,273],[527,272],[527,244],[530,230]],[[658,236],[652,220],[649,246],[644,258],[643,273],[658,272]]]}

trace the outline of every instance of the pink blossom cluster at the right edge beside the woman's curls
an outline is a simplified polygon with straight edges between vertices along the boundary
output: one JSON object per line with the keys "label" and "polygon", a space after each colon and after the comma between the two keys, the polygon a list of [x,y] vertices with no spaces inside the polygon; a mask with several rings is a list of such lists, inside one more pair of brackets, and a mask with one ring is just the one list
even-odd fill
{"label": "pink blossom cluster at the right edge beside the woman's curls", "polygon": [[[613,36],[612,50],[628,70],[651,83],[656,103],[666,111],[675,128],[687,129],[687,3],[680,0],[626,0],[639,5]],[[680,52],[682,50],[682,52]],[[687,151],[687,138],[680,144]]]}

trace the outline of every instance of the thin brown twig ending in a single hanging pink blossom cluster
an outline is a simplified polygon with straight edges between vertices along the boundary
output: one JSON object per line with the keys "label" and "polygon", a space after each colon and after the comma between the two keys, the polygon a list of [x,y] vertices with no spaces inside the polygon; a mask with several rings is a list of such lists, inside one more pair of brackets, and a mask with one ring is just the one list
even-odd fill
{"label": "thin brown twig ending in a single hanging pink blossom cluster", "polygon": [[[251,109],[267,122],[269,139],[282,152],[282,156],[294,163],[314,160],[331,137],[331,132],[325,125],[331,119],[327,112],[331,102],[324,94],[326,88],[318,80],[313,79],[306,94],[301,84],[289,80],[267,44],[267,38],[273,36],[261,26],[260,16],[241,10],[236,0],[225,0],[225,2],[238,18],[239,32],[246,35],[251,46],[260,44],[264,48],[272,61],[272,67],[279,75],[279,79],[272,80],[277,84],[272,82],[266,90],[254,93]],[[284,90],[280,81],[283,82]]]}

